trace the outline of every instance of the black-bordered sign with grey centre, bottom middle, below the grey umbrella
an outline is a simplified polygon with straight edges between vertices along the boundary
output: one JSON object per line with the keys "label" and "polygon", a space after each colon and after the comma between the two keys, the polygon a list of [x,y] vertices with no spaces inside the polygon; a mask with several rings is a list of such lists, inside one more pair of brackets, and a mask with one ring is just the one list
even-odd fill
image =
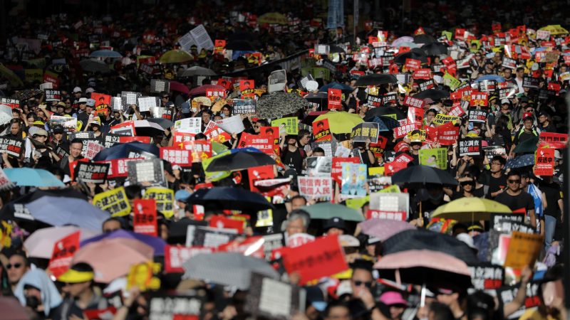
{"label": "black-bordered sign with grey centre, bottom middle, below the grey umbrella", "polygon": [[254,319],[291,319],[304,311],[304,289],[253,272],[245,309]]}

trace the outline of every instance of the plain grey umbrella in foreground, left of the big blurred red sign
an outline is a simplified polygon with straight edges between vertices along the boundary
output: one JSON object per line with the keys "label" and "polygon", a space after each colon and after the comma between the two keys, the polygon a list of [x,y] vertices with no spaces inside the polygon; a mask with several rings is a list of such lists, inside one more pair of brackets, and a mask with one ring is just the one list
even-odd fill
{"label": "plain grey umbrella in foreground, left of the big blurred red sign", "polygon": [[242,290],[249,288],[252,272],[279,279],[279,273],[265,260],[237,252],[201,253],[186,260],[182,267],[186,271],[183,279],[203,279]]}

